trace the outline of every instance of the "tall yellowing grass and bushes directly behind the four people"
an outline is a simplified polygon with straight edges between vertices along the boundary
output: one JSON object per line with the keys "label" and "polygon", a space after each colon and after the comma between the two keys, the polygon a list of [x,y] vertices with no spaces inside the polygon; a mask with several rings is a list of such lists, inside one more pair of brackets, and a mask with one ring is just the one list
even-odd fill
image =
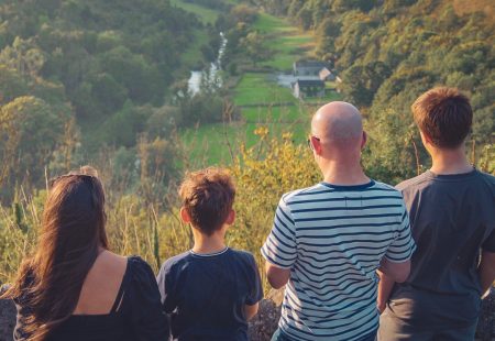
{"label": "tall yellowing grass and bushes directly behind the four people", "polygon": [[[241,146],[231,156],[229,169],[237,183],[237,221],[227,242],[255,255],[267,290],[260,248],[272,228],[278,200],[283,193],[317,183],[320,175],[311,153],[306,145],[294,144],[292,134],[284,134],[282,141],[271,140],[267,129],[258,129],[256,134],[257,144],[250,148]],[[493,152],[493,146],[485,147],[477,162],[481,169],[492,174]],[[103,172],[103,185],[110,183],[110,177]],[[163,185],[156,183],[146,188],[153,191],[160,186]],[[157,271],[163,261],[193,246],[191,231],[179,219],[175,186],[169,186],[164,197],[122,188],[125,184],[106,187],[107,232],[112,251],[140,255]],[[45,198],[46,189],[26,194],[21,187],[11,207],[0,206],[0,282],[12,280],[21,261],[32,253]]]}

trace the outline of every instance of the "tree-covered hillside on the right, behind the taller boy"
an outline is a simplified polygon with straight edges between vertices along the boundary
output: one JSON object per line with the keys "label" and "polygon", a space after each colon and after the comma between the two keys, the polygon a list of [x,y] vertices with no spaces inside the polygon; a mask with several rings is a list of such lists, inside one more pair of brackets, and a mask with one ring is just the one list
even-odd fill
{"label": "tree-covered hillside on the right, behind the taller boy", "polygon": [[[463,1],[441,0],[253,2],[316,31],[317,55],[334,65],[343,79],[344,99],[367,117],[367,167],[373,175],[397,182],[416,173],[414,144],[420,142],[409,108],[435,86],[458,87],[471,97],[477,155],[494,143],[491,13],[472,12]],[[428,164],[418,150],[420,164]]]}

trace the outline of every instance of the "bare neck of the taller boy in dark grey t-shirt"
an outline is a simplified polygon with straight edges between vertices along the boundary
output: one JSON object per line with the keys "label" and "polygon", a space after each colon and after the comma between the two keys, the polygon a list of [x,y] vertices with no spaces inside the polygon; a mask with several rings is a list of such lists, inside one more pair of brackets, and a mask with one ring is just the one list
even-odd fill
{"label": "bare neck of the taller boy in dark grey t-shirt", "polygon": [[473,170],[464,150],[433,151],[431,153],[432,166],[430,170],[439,175],[464,174]]}

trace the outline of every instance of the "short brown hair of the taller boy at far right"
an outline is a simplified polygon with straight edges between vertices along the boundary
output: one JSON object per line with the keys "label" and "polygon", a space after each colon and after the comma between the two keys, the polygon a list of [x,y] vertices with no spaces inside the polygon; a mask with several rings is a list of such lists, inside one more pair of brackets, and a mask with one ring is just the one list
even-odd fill
{"label": "short brown hair of the taller boy at far right", "polygon": [[460,146],[471,131],[473,109],[466,96],[453,88],[433,88],[411,106],[416,124],[440,148]]}

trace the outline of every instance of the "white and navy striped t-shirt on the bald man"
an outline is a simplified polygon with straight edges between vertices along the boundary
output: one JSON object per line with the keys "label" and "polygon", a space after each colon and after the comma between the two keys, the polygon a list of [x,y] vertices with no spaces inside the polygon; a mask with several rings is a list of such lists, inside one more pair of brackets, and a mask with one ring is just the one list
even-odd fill
{"label": "white and navy striped t-shirt on the bald man", "polygon": [[378,328],[376,268],[414,249],[399,191],[320,183],[284,195],[262,254],[290,268],[279,328],[294,340],[359,340]]}

